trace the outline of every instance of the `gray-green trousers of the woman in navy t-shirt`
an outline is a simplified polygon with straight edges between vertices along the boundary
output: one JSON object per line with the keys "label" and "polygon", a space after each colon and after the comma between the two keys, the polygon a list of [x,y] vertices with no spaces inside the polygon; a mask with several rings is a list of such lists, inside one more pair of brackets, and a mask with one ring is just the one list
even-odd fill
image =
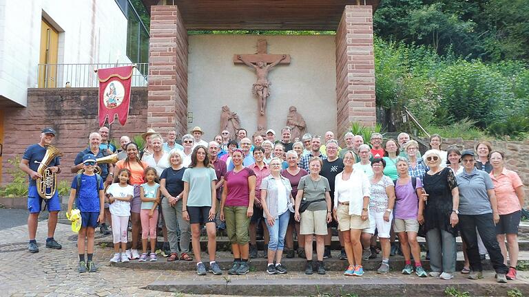
{"label": "gray-green trousers of the woman in navy t-shirt", "polygon": [[[169,204],[169,199],[162,199],[162,211],[167,227],[167,240],[172,253],[189,252],[189,241],[191,231],[189,221],[182,217],[182,200],[178,200],[174,206]],[[178,231],[180,231],[180,247],[178,247]],[[180,248],[180,251],[178,250]]]}

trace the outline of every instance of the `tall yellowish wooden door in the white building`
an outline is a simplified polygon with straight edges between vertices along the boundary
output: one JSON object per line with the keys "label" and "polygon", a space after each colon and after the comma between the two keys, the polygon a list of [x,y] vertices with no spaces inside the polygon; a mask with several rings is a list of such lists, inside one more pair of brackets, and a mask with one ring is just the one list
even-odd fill
{"label": "tall yellowish wooden door in the white building", "polygon": [[[41,54],[39,58],[39,87],[57,87],[57,50],[59,32],[50,23],[41,21]],[[51,64],[51,65],[50,65]]]}

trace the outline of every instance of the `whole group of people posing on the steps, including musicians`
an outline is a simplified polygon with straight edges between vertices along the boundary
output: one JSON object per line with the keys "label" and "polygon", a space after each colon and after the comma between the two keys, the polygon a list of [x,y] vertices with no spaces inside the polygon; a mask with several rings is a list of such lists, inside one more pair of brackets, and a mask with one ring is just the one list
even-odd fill
{"label": "whole group of people posing on the steps, including musicians", "polygon": [[[288,126],[281,129],[280,140],[272,129],[253,140],[240,129],[235,137],[222,131],[205,142],[196,126],[181,137],[181,143],[176,131],[167,133],[167,142],[156,131],[147,131],[143,148],[123,136],[120,160],[112,165],[96,162],[116,152],[108,142],[107,127],[101,129],[90,134],[90,146],[71,167],[77,175],[68,213],[75,203],[82,218],[79,272],[96,271],[94,230],[107,219],[112,225],[115,254],[110,261],[114,263],[157,261],[156,232],[161,225],[167,261],[193,261],[191,241],[197,273],[222,274],[216,263],[216,229],[225,225],[234,256],[228,274],[247,274],[249,259],[258,256],[256,229],[262,225],[268,274],[287,273],[282,255],[295,256],[294,236],[298,256],[307,260],[304,272],[325,274],[324,259],[332,256],[332,228],[338,228],[340,259],[348,261],[344,271],[348,276],[364,274],[362,261],[377,252],[377,238],[382,250],[377,273],[387,273],[396,235],[405,260],[403,274],[453,278],[455,238],[461,235],[466,260],[461,273],[482,278],[481,254],[486,253],[498,282],[516,279],[523,184],[517,173],[506,168],[504,153],[493,151],[488,142],[479,142],[475,150],[443,151],[442,138],[432,135],[431,149],[421,155],[419,144],[406,133],[384,144],[382,135],[373,133],[371,145],[364,144],[362,135],[346,133],[346,146],[340,148],[331,131],[324,137],[307,133],[292,141]],[[39,144],[28,147],[21,162],[30,176],[30,252],[38,252],[35,214],[42,200],[34,190],[34,179],[39,178],[34,161],[42,159],[54,135],[53,129],[43,129]],[[59,158],[48,166],[60,172]],[[96,166],[99,174],[94,173]],[[53,239],[60,210],[55,199],[56,195],[46,201],[48,248],[61,248]],[[129,221],[132,248],[127,250]],[[200,251],[203,227],[208,265]],[[101,231],[107,231],[106,225]],[[426,236],[429,274],[422,267],[417,236]]]}

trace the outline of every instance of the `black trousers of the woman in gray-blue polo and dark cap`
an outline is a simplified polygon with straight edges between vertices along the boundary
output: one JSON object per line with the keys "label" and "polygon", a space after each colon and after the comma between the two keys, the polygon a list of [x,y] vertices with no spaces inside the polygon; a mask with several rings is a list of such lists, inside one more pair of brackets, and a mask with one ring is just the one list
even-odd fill
{"label": "black trousers of the woman in gray-blue polo and dark cap", "polygon": [[466,253],[468,261],[473,271],[480,272],[483,270],[481,259],[479,259],[479,250],[477,246],[477,232],[490,256],[490,263],[498,274],[506,274],[508,267],[504,264],[504,256],[501,255],[499,244],[496,239],[496,227],[492,219],[492,213],[486,214],[459,214],[459,230],[461,236],[466,242]]}

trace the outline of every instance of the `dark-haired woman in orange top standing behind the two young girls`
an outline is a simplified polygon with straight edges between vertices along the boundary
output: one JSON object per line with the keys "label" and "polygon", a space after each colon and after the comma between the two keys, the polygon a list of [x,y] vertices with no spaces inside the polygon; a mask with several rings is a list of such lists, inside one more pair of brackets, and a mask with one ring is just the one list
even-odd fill
{"label": "dark-haired woman in orange top standing behind the two young girls", "polygon": [[134,198],[130,201],[130,221],[132,223],[132,248],[127,250],[127,256],[129,259],[139,259],[138,254],[138,238],[141,232],[141,220],[140,220],[140,185],[145,182],[145,174],[143,173],[145,168],[148,167],[147,163],[141,161],[139,157],[138,145],[134,142],[129,142],[125,146],[127,157],[119,160],[114,166],[114,175],[117,175],[119,170],[127,168],[130,170],[130,184],[134,186]]}

